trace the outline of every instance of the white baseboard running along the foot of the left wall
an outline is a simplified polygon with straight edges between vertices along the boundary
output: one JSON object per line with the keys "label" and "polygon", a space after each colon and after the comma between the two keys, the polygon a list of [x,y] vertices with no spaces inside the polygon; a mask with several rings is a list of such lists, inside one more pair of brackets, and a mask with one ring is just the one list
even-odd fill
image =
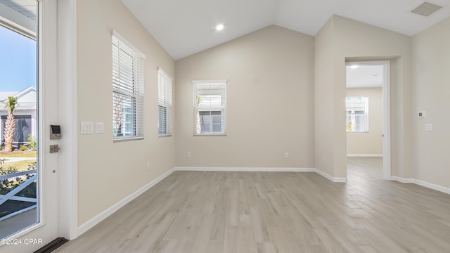
{"label": "white baseboard running along the foot of the left wall", "polygon": [[88,231],[90,228],[96,226],[100,221],[103,221],[103,219],[106,219],[108,216],[116,212],[118,209],[120,209],[124,205],[127,205],[131,200],[134,200],[136,197],[144,193],[146,190],[155,186],[155,184],[159,183],[162,179],[165,179],[174,171],[175,169],[170,169],[165,174],[162,174],[157,179],[148,183],[146,186],[143,186],[139,190],[136,190],[134,193],[131,193],[131,195],[125,197],[123,200],[120,200],[119,202],[115,203],[115,205],[109,207],[108,209],[105,209],[105,211],[101,212],[100,214],[97,214],[96,216],[94,216],[94,218],[83,223],[81,226],[78,227],[78,236],[82,235],[82,233]]}

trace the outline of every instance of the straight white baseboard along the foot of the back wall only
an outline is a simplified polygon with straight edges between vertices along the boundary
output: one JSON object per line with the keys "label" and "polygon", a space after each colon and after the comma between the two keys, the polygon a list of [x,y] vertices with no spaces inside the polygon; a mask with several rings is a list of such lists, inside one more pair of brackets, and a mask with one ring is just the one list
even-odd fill
{"label": "straight white baseboard along the foot of the back wall only", "polygon": [[274,171],[274,172],[314,172],[314,168],[276,167],[175,167],[176,171]]}

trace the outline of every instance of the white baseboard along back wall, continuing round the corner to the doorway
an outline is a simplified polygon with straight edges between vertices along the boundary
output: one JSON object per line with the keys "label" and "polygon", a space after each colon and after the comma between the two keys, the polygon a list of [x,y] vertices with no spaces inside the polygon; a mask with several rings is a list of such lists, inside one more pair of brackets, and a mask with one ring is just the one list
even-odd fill
{"label": "white baseboard along back wall, continuing round the corner to the doorway", "polygon": [[335,182],[345,183],[346,178],[336,178],[315,168],[276,168],[276,167],[175,167],[176,171],[274,171],[274,172],[316,172],[324,178]]}

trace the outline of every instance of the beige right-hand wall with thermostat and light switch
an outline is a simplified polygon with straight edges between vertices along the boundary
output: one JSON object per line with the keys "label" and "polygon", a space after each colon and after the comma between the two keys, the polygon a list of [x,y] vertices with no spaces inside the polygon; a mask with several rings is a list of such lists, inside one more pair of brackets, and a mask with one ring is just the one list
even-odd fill
{"label": "beige right-hand wall with thermostat and light switch", "polygon": [[[413,177],[450,188],[450,18],[413,37]],[[425,110],[427,117],[418,118]],[[432,131],[425,131],[425,124]]]}

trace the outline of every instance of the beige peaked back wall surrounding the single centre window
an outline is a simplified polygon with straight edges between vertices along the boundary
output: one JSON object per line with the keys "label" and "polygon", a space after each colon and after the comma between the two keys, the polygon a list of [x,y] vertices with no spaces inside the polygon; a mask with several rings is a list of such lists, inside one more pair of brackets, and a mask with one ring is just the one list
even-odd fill
{"label": "beige peaked back wall surrounding the single centre window", "polygon": [[[227,136],[193,136],[194,79],[228,80]],[[176,101],[179,167],[314,167],[314,37],[272,25],[177,60]]]}

